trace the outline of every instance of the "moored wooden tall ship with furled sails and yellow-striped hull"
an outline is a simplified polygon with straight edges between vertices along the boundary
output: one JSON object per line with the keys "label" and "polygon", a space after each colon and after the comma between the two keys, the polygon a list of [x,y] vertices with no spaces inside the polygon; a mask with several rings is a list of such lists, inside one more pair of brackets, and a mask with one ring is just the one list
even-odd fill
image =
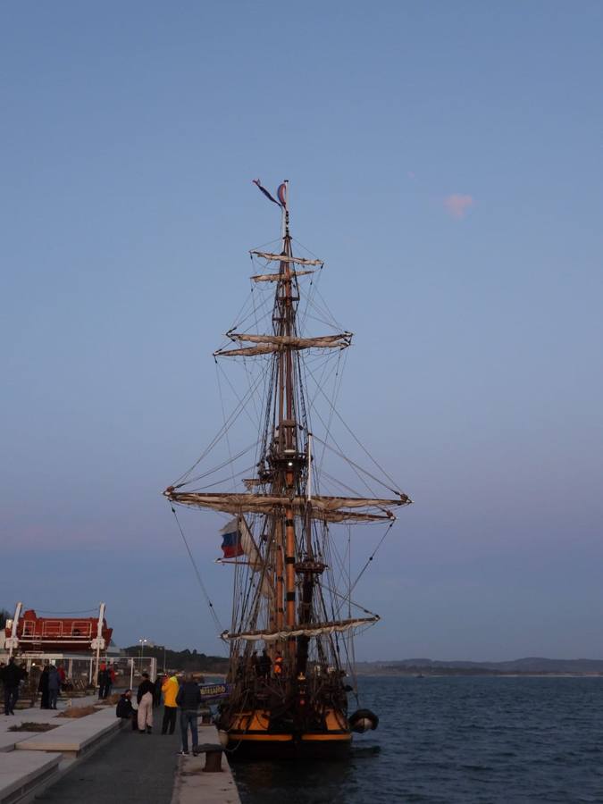
{"label": "moored wooden tall ship with furled sails and yellow-striped hull", "polygon": [[[214,352],[237,404],[163,494],[176,516],[182,506],[228,518],[221,563],[231,565],[232,616],[221,636],[230,650],[230,695],[217,724],[231,756],[331,756],[348,750],[354,732],[378,724],[359,708],[354,637],[380,618],[356,602],[355,590],[395,511],[412,500],[339,414],[352,332],[322,299],[322,260],[290,234],[289,183],[276,197],[255,184],[281,208],[281,238],[250,252],[250,300]],[[317,322],[325,333],[314,334]],[[238,364],[239,386],[223,361]],[[354,458],[335,439],[336,424]],[[223,459],[214,465],[218,444]]]}

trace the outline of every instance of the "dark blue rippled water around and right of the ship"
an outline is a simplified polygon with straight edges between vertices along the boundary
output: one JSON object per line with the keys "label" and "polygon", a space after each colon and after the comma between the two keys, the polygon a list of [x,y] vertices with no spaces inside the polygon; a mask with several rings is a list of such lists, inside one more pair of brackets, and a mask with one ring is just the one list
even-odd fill
{"label": "dark blue rippled water around and right of the ship", "polygon": [[348,759],[234,767],[243,804],[603,802],[603,678],[364,678]]}

